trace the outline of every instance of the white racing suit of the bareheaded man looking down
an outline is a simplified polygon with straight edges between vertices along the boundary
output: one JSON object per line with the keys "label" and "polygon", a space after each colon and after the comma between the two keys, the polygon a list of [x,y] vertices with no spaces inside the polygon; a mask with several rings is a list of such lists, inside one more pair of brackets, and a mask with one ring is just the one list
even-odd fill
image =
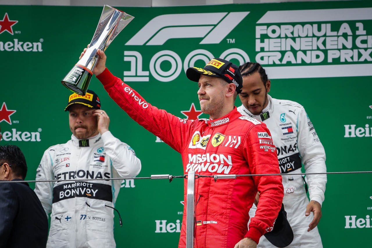
{"label": "white racing suit of the bareheaded man looking down", "polygon": [[[303,106],[297,102],[271,98],[269,95],[268,101],[269,104],[258,116],[243,105],[238,107],[238,111],[266,124],[276,146],[280,173],[287,174],[282,176],[283,204],[294,233],[294,239],[288,247],[321,248],[323,245],[318,228],[307,232],[314,215],[305,216],[309,203],[305,188],[308,185],[310,200],[322,204],[327,176],[307,175],[305,184],[301,175],[290,174],[301,173],[302,164],[307,173],[326,172],[323,145]],[[249,216],[254,216],[255,211],[256,206],[253,205]],[[257,247],[275,246],[262,236]]]}

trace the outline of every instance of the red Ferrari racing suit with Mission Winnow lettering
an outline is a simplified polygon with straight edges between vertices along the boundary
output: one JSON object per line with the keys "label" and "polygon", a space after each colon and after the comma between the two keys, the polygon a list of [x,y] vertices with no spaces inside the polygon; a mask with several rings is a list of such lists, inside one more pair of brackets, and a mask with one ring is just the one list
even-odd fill
{"label": "red Ferrari racing suit with Mission Winnow lettering", "polygon": [[[218,120],[186,120],[146,102],[108,69],[97,76],[110,97],[138,124],[181,153],[185,174],[279,174],[278,157],[266,125],[241,115],[236,107]],[[186,193],[179,247],[186,247]],[[281,176],[195,181],[196,244],[199,248],[233,248],[244,237],[256,243],[272,230],[283,199]],[[256,216],[249,209],[257,191]]]}

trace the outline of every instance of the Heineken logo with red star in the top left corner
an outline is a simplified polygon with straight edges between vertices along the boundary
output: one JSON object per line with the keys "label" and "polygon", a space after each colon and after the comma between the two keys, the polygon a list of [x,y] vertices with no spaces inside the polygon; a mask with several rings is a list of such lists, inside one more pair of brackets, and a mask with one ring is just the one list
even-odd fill
{"label": "Heineken logo with red star in the top left corner", "polygon": [[0,51],[42,52],[42,42],[44,39],[39,39],[39,42],[20,41],[17,38],[14,38],[12,41],[3,41],[4,37],[6,37],[4,34],[21,35],[21,31],[13,30],[19,21],[12,19],[9,18],[8,13],[5,13],[3,20],[0,20]]}

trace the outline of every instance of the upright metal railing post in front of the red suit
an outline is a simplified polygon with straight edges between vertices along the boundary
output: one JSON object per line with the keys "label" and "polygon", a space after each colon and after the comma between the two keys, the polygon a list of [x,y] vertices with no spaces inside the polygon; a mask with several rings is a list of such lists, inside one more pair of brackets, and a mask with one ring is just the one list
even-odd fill
{"label": "upright metal railing post in front of the red suit", "polygon": [[187,174],[186,204],[186,248],[194,248],[195,244],[195,171]]}

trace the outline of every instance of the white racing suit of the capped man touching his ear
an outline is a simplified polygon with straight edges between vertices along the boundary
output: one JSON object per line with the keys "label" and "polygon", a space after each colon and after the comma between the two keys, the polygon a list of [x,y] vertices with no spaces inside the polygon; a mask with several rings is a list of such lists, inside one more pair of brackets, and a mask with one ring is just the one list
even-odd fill
{"label": "white racing suit of the capped man touching his ear", "polygon": [[[134,150],[106,131],[49,147],[36,180],[135,177],[140,170]],[[116,247],[112,207],[120,187],[121,180],[36,182],[35,193],[52,213],[47,247]]]}

